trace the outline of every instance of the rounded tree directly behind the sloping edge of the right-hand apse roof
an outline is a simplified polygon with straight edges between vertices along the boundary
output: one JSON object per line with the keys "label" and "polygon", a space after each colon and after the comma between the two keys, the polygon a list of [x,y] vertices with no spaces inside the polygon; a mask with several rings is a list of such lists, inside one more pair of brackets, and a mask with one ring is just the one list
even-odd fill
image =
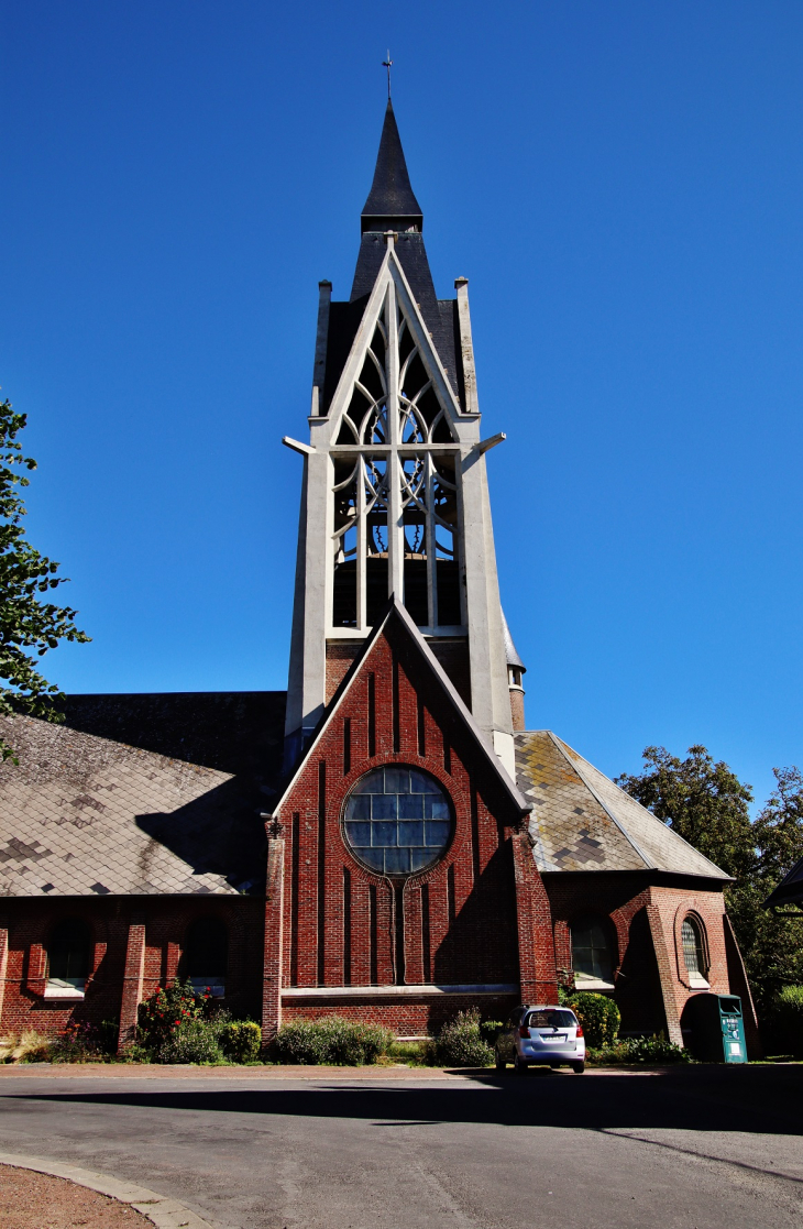
{"label": "rounded tree directly behind the sloping edge of the right-hand apse roof", "polygon": [[647,747],[645,771],[616,784],[728,875],[749,874],[755,860],[749,804],[753,790],[701,746],[685,760]]}

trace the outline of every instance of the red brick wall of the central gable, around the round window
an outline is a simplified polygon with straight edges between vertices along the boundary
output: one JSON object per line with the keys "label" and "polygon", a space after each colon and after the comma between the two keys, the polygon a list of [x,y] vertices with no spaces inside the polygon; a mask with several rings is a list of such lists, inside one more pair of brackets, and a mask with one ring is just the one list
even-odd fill
{"label": "red brick wall of the central gable, around the round window", "polygon": [[[462,648],[454,648],[456,659]],[[389,763],[426,769],[454,807],[443,859],[404,882],[357,862],[340,827],[351,788],[367,769]],[[390,626],[372,645],[277,819],[285,841],[285,987],[519,983],[512,838],[521,817],[404,633],[394,637]],[[530,896],[543,896],[529,854],[527,874]],[[528,977],[554,994],[545,896],[533,917],[539,925],[527,939]],[[479,999],[478,1007],[484,1009]],[[319,1009],[329,1010],[323,1003]],[[378,1008],[366,997],[349,1010],[376,1018]],[[416,1032],[425,1031],[433,1008],[394,1000],[382,1010]],[[282,1014],[309,1011],[308,1002],[289,1003]],[[266,1031],[276,1023],[266,1020]]]}

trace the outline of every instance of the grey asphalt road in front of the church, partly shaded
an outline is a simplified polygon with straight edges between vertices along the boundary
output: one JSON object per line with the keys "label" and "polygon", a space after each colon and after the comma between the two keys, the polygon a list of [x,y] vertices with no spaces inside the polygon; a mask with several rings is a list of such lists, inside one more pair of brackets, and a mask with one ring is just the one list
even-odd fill
{"label": "grey asphalt road in front of the church, partly shaded", "polygon": [[803,1068],[0,1079],[0,1148],[226,1229],[755,1229],[803,1204]]}

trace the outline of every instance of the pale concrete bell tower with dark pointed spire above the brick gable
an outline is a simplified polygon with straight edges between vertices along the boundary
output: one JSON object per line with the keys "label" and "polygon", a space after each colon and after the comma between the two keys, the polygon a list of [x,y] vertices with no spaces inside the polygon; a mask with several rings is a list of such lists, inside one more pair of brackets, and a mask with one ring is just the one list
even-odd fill
{"label": "pale concrete bell tower with dark pointed spire above the brick gable", "polygon": [[397,597],[511,777],[513,728],[468,281],[438,299],[388,100],[347,301],[319,284],[286,761]]}

